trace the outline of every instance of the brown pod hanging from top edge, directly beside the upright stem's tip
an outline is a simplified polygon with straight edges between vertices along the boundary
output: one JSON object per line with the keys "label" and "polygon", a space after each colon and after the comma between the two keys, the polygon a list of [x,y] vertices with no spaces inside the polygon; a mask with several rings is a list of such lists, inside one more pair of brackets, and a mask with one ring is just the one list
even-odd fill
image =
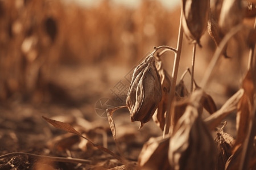
{"label": "brown pod hanging from top edge, directly beside the upright stem's tip", "polygon": [[[185,35],[200,45],[200,38],[207,28],[209,0],[183,0],[182,26]],[[200,45],[201,46],[201,45]]]}

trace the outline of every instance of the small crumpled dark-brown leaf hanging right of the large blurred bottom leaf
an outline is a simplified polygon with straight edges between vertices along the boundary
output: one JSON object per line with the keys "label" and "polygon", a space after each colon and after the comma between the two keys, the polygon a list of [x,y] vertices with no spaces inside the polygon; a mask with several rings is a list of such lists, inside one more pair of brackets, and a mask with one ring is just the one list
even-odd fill
{"label": "small crumpled dark-brown leaf hanging right of the large blurred bottom leaf", "polygon": [[225,164],[232,155],[232,148],[234,146],[233,137],[223,131],[225,125],[226,123],[221,129],[217,130],[216,138],[214,139],[218,147],[217,169],[225,169]]}

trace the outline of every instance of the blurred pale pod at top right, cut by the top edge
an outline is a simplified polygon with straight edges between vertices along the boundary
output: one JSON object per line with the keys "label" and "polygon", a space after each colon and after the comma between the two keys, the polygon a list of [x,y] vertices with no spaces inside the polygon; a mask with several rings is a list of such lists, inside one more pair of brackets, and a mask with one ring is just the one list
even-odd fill
{"label": "blurred pale pod at top right, cut by the top edge", "polygon": [[243,7],[241,0],[224,0],[220,13],[220,25],[222,35],[225,35],[234,26],[242,23]]}

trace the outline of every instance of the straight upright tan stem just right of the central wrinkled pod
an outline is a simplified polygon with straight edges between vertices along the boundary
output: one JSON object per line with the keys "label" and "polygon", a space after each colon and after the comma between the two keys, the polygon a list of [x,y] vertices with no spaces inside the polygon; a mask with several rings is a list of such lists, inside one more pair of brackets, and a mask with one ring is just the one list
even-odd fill
{"label": "straight upright tan stem just right of the central wrinkled pod", "polygon": [[183,40],[183,28],[181,25],[181,20],[182,20],[182,9],[180,13],[180,27],[179,27],[179,36],[177,40],[177,53],[175,53],[174,68],[172,70],[172,82],[170,87],[170,93],[168,96],[168,107],[166,112],[166,120],[164,122],[163,138],[165,137],[166,134],[169,134],[170,124],[171,124],[170,111],[171,111],[171,105],[175,96],[175,86],[177,81],[177,72],[179,70],[180,54],[181,54],[181,47],[182,47],[182,40]]}

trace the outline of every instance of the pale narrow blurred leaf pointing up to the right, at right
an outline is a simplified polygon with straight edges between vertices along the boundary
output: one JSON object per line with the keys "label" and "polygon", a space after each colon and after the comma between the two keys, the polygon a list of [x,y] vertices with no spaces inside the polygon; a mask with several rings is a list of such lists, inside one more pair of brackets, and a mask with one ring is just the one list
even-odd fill
{"label": "pale narrow blurred leaf pointing up to the right, at right", "polygon": [[204,120],[210,130],[214,130],[221,121],[237,108],[237,104],[243,96],[244,90],[240,89],[215,113]]}

